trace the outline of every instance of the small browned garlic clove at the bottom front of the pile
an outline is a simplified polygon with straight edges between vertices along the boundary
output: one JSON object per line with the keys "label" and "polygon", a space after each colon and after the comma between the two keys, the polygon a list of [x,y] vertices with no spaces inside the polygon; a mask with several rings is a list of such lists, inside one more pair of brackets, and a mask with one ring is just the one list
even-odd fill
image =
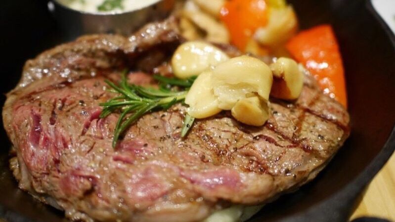
{"label": "small browned garlic clove at the bottom front of the pile", "polygon": [[258,96],[237,101],[231,112],[239,122],[251,126],[262,126],[269,118],[267,102],[261,101]]}

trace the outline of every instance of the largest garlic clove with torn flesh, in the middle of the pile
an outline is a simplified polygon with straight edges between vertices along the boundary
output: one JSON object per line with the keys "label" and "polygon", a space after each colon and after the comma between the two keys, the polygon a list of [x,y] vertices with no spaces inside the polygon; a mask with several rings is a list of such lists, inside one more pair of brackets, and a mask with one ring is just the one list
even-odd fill
{"label": "largest garlic clove with torn flesh, in the middle of the pile", "polygon": [[273,82],[270,68],[250,56],[239,56],[218,64],[212,79],[214,95],[222,110],[231,110],[238,100],[252,92],[268,101]]}

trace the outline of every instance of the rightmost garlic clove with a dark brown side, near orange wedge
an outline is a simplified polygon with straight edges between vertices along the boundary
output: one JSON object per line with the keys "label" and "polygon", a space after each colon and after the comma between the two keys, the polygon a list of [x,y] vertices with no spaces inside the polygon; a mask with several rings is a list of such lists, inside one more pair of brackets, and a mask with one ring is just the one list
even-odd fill
{"label": "rightmost garlic clove with a dark brown side, near orange wedge", "polygon": [[288,58],[279,58],[270,65],[274,81],[270,95],[284,100],[295,100],[303,88],[304,74],[298,64]]}

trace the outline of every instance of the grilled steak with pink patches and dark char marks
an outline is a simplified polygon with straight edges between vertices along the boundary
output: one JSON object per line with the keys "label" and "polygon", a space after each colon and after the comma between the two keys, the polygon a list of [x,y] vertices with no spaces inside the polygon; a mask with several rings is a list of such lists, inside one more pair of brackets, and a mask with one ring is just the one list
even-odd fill
{"label": "grilled steak with pink patches and dark char marks", "polygon": [[[171,73],[182,42],[174,19],[132,37],[85,36],[29,60],[7,94],[3,121],[20,188],[71,220],[192,222],[233,204],[273,200],[313,179],[349,135],[349,115],[306,74],[294,102],[270,99],[262,127],[229,112],[196,120],[180,138],[185,107],[144,115],[112,148],[119,113],[104,79],[125,68],[135,84]],[[234,53],[234,49],[232,49]]]}

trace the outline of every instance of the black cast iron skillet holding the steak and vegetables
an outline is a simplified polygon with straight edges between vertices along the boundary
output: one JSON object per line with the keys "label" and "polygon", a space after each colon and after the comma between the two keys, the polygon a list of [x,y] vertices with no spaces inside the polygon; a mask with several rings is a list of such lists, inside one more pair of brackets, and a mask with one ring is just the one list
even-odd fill
{"label": "black cast iron skillet holding the steak and vegetables", "polygon": [[[333,25],[346,69],[351,136],[318,177],[266,205],[252,221],[346,221],[363,187],[395,148],[395,37],[363,0],[292,0],[301,28]],[[24,62],[63,41],[42,0],[2,0],[1,90],[12,89]],[[1,96],[1,106],[4,103]],[[1,127],[0,218],[60,222],[63,213],[21,191],[8,170]]]}

